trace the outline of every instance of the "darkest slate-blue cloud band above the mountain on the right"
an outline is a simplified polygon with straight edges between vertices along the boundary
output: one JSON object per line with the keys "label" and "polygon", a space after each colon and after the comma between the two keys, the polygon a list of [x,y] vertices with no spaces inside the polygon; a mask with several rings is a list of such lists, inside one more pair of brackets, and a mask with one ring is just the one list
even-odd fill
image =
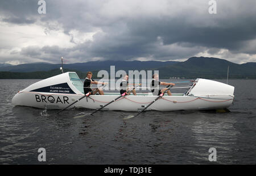
{"label": "darkest slate-blue cloud band above the mountain on the right", "polygon": [[[222,20],[221,22],[214,20],[216,26],[209,27],[185,23],[184,18],[143,19],[144,22],[141,21],[141,23],[140,20],[137,20],[129,24],[130,33],[134,36],[144,36],[148,42],[161,36],[164,45],[184,42],[204,47],[226,48],[231,51],[242,47],[243,41],[256,37],[256,18],[251,18],[250,15],[241,18],[234,16],[232,19],[222,19],[226,20],[226,25],[222,24],[225,23]],[[234,23],[229,24],[230,20]]]}

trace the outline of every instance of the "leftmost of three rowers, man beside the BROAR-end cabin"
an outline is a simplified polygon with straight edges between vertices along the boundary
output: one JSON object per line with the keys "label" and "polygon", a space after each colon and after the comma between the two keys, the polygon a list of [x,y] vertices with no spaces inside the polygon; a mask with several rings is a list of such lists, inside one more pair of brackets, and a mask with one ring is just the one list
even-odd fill
{"label": "leftmost of three rowers, man beside the BROAR-end cabin", "polygon": [[[101,84],[103,86],[103,85],[106,85],[108,83],[107,82],[94,81],[92,79],[92,72],[87,72],[86,78],[84,80],[84,94],[87,94],[87,93],[92,91],[92,89],[91,89],[92,84],[94,84],[94,85]],[[97,92],[100,95],[104,95],[104,91],[101,88],[97,88],[96,90],[92,91],[92,95],[95,95]]]}

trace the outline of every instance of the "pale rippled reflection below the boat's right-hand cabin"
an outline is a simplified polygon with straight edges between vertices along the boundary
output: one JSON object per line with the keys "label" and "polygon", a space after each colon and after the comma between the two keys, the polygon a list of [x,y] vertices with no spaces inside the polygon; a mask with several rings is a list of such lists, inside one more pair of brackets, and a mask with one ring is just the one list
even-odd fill
{"label": "pale rippled reflection below the boat's right-hand cabin", "polygon": [[[236,119],[216,119],[208,120],[205,115],[201,115],[203,119],[197,120],[192,125],[193,137],[196,140],[196,146],[204,148],[205,153],[197,153],[198,156],[205,158],[209,155],[209,148],[216,148],[218,164],[227,164],[232,157],[229,153],[237,145],[237,137],[240,134],[236,131],[233,124],[237,123]],[[217,118],[218,119],[218,118]],[[195,153],[194,153],[195,154]],[[227,157],[228,156],[228,157]],[[232,163],[231,162],[231,163]]]}

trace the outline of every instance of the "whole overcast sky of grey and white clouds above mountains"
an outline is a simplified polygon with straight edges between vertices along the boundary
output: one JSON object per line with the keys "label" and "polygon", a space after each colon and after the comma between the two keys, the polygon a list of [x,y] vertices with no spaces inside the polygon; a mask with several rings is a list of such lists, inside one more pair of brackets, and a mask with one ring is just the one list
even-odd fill
{"label": "whole overcast sky of grey and white clouds above mountains", "polygon": [[256,1],[0,1],[0,63],[92,60],[256,62]]}

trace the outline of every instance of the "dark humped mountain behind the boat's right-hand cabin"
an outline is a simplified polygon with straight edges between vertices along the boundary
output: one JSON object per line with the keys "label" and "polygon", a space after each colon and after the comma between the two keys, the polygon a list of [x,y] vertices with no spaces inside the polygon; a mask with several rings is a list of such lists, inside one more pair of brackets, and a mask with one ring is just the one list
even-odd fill
{"label": "dark humped mountain behind the boat's right-hand cabin", "polygon": [[162,78],[256,78],[256,63],[235,64],[220,58],[191,57],[187,61],[158,68]]}

